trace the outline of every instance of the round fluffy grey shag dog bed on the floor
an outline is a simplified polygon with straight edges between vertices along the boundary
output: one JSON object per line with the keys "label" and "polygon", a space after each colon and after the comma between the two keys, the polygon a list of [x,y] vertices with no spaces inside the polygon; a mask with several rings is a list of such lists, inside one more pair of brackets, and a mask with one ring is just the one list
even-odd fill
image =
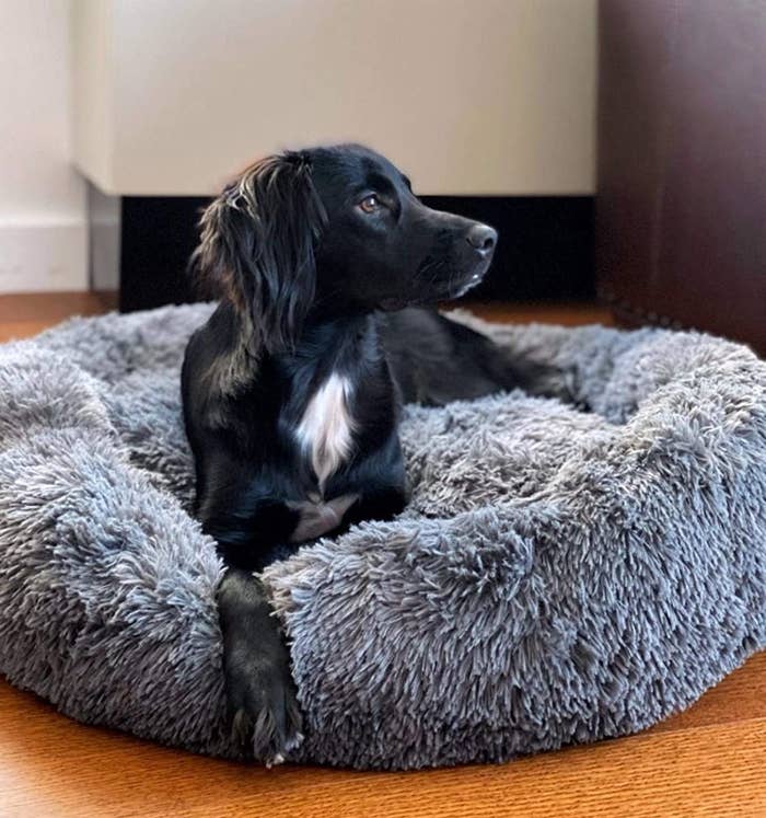
{"label": "round fluffy grey shag dog bed on the floor", "polygon": [[[236,756],[178,395],[209,310],[0,348],[0,671],[82,722]],[[764,647],[766,364],[695,334],[487,331],[548,366],[554,398],[408,407],[406,512],[265,575],[305,714],[294,760],[624,735]]]}

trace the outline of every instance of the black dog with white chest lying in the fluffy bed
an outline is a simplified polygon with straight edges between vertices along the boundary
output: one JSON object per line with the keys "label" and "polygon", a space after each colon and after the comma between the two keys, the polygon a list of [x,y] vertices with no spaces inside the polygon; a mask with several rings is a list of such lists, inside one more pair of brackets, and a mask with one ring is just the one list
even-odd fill
{"label": "black dog with white chest lying in the fluffy bed", "polygon": [[253,575],[300,543],[406,503],[402,401],[518,385],[486,337],[434,311],[489,267],[492,228],[431,210],[359,146],[270,157],[205,211],[194,264],[222,290],[183,369],[198,516],[230,566],[219,591],[235,734],[281,760],[301,718]]}

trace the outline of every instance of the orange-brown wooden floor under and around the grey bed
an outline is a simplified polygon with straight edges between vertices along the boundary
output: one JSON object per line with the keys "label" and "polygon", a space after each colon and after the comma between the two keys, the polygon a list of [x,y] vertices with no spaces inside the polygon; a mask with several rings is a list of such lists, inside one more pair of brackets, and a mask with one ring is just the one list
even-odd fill
{"label": "orange-brown wooden floor under and around the grey bed", "polygon": [[[0,339],[112,300],[0,297]],[[489,319],[608,321],[592,307],[477,309]],[[766,654],[690,710],[630,738],[498,767],[265,771],[84,727],[0,681],[0,818],[766,817]]]}

